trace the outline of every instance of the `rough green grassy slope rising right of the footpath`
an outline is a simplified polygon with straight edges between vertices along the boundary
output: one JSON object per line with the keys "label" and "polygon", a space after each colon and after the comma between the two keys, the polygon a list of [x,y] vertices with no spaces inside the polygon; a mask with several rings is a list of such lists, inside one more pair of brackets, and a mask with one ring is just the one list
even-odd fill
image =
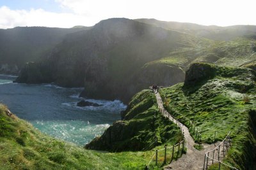
{"label": "rough green grassy slope rising right of the footpath", "polygon": [[195,85],[178,83],[163,89],[168,110],[187,126],[185,117],[193,120],[206,143],[213,142],[214,131],[217,131],[218,141],[231,131],[232,148],[225,161],[239,169],[253,169],[256,158],[255,72],[209,64],[199,66],[211,69],[208,70],[211,75]]}

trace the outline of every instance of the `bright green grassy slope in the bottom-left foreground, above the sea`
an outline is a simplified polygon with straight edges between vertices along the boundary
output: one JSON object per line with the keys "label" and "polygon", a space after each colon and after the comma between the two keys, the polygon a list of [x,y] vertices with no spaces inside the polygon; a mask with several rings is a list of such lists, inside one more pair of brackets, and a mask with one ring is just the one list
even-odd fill
{"label": "bright green grassy slope in the bottom-left foreground, above the sea", "polygon": [[6,113],[0,104],[0,169],[143,169],[154,153],[84,150]]}

